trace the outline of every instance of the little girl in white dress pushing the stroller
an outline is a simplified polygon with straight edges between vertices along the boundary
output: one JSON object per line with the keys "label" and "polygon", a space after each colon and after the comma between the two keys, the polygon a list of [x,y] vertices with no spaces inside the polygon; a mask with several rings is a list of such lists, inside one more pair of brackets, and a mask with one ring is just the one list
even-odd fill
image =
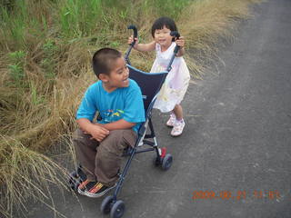
{"label": "little girl in white dress pushing the stroller", "polygon": [[[162,86],[154,105],[154,108],[159,109],[162,113],[171,112],[166,125],[173,127],[172,136],[178,136],[183,133],[185,126],[181,102],[186,94],[190,74],[182,57],[185,54],[184,37],[180,36],[179,39],[175,39],[170,35],[172,31],[177,31],[175,22],[171,18],[160,17],[152,26],[154,40],[148,44],[139,44],[138,39],[135,38],[134,48],[140,52],[156,50],[156,60],[151,73],[159,73],[166,71],[166,66],[174,54],[176,45],[180,46],[172,64],[172,70],[166,76],[165,84]],[[128,44],[131,44],[133,40],[133,36],[129,37]]]}

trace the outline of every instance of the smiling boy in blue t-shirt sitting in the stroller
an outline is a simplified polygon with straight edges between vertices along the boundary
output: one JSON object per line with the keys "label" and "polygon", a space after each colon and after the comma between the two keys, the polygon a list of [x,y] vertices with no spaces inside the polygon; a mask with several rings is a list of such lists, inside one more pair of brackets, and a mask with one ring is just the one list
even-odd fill
{"label": "smiling boy in blue t-shirt sitting in the stroller", "polygon": [[[138,128],[145,122],[145,110],[140,88],[128,78],[120,52],[98,50],[93,55],[93,70],[99,81],[89,86],[78,108],[79,128],[73,143],[87,176],[78,193],[100,197],[115,187],[122,154],[127,146],[135,145]],[[93,123],[96,112],[101,120]]]}

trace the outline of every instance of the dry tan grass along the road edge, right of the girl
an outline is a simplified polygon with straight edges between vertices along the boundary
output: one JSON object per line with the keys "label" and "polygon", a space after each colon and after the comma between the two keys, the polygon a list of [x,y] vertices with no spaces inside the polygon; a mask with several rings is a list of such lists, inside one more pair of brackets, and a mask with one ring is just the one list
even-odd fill
{"label": "dry tan grass along the road edge, right of the girl", "polygon": [[231,43],[242,19],[251,16],[249,5],[260,0],[197,0],[179,19],[179,29],[186,35],[191,53],[186,61],[192,74],[201,78],[209,63],[217,61],[219,48]]}

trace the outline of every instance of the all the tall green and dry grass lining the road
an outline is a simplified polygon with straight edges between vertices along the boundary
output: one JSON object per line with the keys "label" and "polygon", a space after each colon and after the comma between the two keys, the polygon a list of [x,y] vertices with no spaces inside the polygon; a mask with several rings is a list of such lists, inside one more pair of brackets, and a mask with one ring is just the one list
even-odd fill
{"label": "all the tall green and dry grass lining the road", "polygon": [[[95,81],[95,50],[109,46],[125,53],[132,34],[127,25],[136,25],[140,41],[148,42],[153,21],[170,16],[186,37],[193,78],[201,78],[205,63],[216,60],[219,39],[231,42],[238,21],[258,2],[1,0],[0,212],[25,213],[27,198],[52,199],[49,183],[65,187],[66,171],[47,151],[75,129],[76,106]],[[131,62],[148,71],[154,56],[133,51]]]}

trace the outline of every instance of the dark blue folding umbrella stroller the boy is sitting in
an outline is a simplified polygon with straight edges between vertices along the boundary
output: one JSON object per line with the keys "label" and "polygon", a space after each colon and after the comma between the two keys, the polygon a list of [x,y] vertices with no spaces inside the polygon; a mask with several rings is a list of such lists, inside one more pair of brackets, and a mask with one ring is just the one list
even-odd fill
{"label": "dark blue folding umbrella stroller the boy is sitting in", "polygon": [[[136,38],[137,29],[135,25],[129,25],[128,29],[132,29],[134,31],[134,38]],[[179,34],[176,31],[172,32],[171,35],[175,36],[176,38],[179,37]],[[110,213],[111,218],[122,217],[125,213],[125,203],[122,200],[117,200],[117,194],[121,191],[122,185],[125,181],[125,174],[127,173],[135,154],[155,151],[156,156],[153,160],[154,164],[161,167],[165,171],[171,167],[173,162],[172,155],[166,154],[166,148],[158,148],[156,134],[154,132],[151,117],[152,109],[156,101],[156,95],[164,84],[166,75],[171,71],[171,65],[179,50],[179,46],[176,45],[174,54],[172,55],[165,72],[148,74],[136,69],[130,64],[129,54],[134,45],[135,41],[131,45],[129,45],[129,48],[125,53],[125,62],[127,64],[127,67],[129,68],[129,77],[135,80],[135,82],[141,88],[146,111],[146,122],[144,122],[139,128],[135,146],[133,148],[128,147],[125,150],[125,156],[129,156],[129,158],[125,163],[123,171],[119,173],[119,180],[115,186],[114,194],[106,196],[101,203],[101,212],[104,214]],[[147,128],[149,128],[149,134],[147,134]],[[143,145],[148,145],[149,147],[142,148]],[[83,181],[85,181],[85,173],[82,172],[82,167],[79,165],[74,172],[69,174],[69,183],[71,188],[77,191],[78,185]]]}

